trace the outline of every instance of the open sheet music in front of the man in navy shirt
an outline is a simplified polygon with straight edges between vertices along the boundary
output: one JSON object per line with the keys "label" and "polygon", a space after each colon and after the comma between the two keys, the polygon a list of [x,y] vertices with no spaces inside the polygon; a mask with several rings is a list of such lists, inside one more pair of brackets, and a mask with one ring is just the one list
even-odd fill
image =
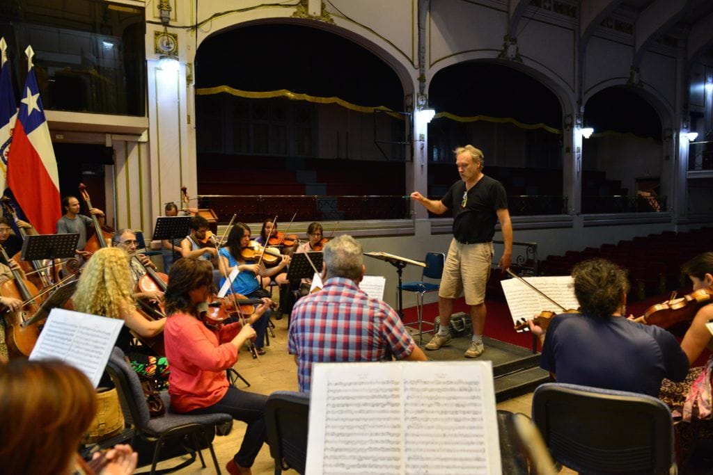
{"label": "open sheet music in front of the man in navy shirt", "polygon": [[[575,297],[574,279],[571,276],[525,277],[524,279],[565,309],[579,308]],[[501,285],[515,325],[521,323],[523,319],[529,320],[533,315],[539,315],[543,310],[555,313],[563,311],[516,278],[501,281]]]}

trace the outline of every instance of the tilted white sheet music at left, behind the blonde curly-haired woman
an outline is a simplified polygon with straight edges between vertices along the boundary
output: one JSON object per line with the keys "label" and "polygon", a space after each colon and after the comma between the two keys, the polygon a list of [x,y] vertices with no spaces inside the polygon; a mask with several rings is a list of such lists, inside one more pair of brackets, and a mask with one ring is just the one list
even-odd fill
{"label": "tilted white sheet music at left, behind the blonde curly-haired woman", "polygon": [[118,318],[53,308],[30,360],[62,360],[97,387],[123,325]]}

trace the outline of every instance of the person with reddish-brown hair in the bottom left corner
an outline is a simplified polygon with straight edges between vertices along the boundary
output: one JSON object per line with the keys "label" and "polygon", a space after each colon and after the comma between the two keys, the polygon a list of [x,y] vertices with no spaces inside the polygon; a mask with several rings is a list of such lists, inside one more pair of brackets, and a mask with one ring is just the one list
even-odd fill
{"label": "person with reddish-brown hair in the bottom left corner", "polygon": [[129,475],[138,455],[117,445],[83,461],[76,450],[97,411],[96,393],[76,367],[58,360],[0,365],[0,471],[33,475]]}

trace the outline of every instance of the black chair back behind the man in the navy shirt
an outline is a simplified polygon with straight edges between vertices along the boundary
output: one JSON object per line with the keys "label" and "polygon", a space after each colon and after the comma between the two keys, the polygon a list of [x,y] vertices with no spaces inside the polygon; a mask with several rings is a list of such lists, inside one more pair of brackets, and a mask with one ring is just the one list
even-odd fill
{"label": "black chair back behind the man in the navy shirt", "polygon": [[635,392],[545,383],[532,417],[550,454],[585,474],[675,474],[674,430],[661,400]]}

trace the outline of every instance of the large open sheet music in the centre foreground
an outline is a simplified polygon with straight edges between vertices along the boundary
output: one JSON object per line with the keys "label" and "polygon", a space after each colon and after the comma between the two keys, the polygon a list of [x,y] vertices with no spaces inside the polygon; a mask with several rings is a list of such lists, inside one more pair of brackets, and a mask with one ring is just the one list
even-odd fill
{"label": "large open sheet music in the centre foreground", "polygon": [[501,474],[489,361],[317,363],[309,407],[308,474]]}

